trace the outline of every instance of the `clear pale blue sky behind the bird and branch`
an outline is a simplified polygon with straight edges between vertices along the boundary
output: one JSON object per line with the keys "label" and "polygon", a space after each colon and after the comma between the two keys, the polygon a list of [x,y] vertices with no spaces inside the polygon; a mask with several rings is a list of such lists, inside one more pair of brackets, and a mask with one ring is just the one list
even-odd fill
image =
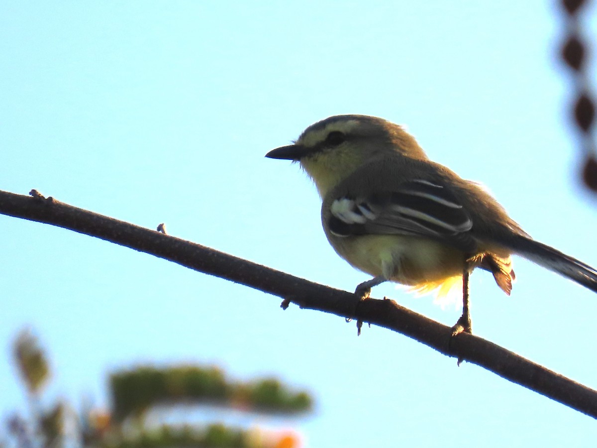
{"label": "clear pale blue sky behind the bird and branch", "polygon": [[[595,41],[595,14],[587,17]],[[407,125],[534,237],[595,266],[597,202],[578,186],[555,2],[0,4],[0,189],[32,188],[346,290],[297,165],[264,158],[309,124]],[[593,72],[593,83],[597,83]],[[312,391],[306,446],[582,446],[592,418],[377,327],[48,225],[0,216],[0,416],[23,409],[10,343],[31,326],[47,398],[105,404],[134,363],[217,363]],[[597,297],[515,260],[505,296],[472,277],[477,335],[593,388]],[[374,289],[442,323],[460,313]],[[466,435],[463,435],[466,433]],[[0,433],[1,434],[1,433]]]}

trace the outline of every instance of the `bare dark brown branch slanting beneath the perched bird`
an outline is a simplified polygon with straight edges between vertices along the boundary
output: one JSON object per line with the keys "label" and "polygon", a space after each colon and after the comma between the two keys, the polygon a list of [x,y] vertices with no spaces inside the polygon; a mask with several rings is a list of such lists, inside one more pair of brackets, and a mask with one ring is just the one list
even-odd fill
{"label": "bare dark brown branch slanting beneath the perched bird", "polygon": [[448,347],[446,342],[451,335],[450,327],[410,311],[393,300],[364,300],[359,304],[359,315],[356,316],[357,299],[353,293],[312,283],[209,247],[72,207],[53,198],[44,198],[36,191],[31,194],[33,197],[0,191],[0,214],[71,229],[195,271],[226,278],[282,297],[283,307],[292,302],[305,309],[329,312],[343,318],[359,318],[402,333],[442,354],[477,364],[502,378],[597,418],[597,391],[468,333],[455,337]]}

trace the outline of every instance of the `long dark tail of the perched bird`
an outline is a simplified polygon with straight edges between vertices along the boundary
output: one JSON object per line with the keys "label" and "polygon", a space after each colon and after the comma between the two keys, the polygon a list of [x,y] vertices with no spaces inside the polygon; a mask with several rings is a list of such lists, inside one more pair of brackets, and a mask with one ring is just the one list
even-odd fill
{"label": "long dark tail of the perched bird", "polygon": [[517,237],[515,241],[506,246],[510,247],[513,253],[550,271],[564,275],[564,277],[597,293],[597,270],[576,258],[523,236]]}

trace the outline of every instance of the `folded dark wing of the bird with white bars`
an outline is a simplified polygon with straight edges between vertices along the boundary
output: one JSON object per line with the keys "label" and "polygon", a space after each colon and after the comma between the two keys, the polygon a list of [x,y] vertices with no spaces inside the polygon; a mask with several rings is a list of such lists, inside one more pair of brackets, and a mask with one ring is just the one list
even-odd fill
{"label": "folded dark wing of the bird with white bars", "polygon": [[354,235],[414,235],[468,250],[474,246],[469,213],[449,188],[417,179],[392,191],[340,197],[330,205],[330,231]]}

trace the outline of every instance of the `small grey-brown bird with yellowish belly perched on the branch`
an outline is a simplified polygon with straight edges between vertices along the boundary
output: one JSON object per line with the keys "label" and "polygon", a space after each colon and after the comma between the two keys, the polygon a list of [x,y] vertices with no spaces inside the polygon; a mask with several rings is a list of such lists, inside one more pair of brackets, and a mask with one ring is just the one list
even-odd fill
{"label": "small grey-brown bird with yellowish belly perched on the branch", "polygon": [[355,293],[395,281],[447,292],[464,280],[455,333],[470,332],[468,275],[490,271],[506,293],[518,254],[597,292],[597,271],[534,241],[481,186],[431,161],[413,136],[374,116],[338,115],[266,157],[300,162],[322,198],[325,235],[338,255],[373,276]]}

